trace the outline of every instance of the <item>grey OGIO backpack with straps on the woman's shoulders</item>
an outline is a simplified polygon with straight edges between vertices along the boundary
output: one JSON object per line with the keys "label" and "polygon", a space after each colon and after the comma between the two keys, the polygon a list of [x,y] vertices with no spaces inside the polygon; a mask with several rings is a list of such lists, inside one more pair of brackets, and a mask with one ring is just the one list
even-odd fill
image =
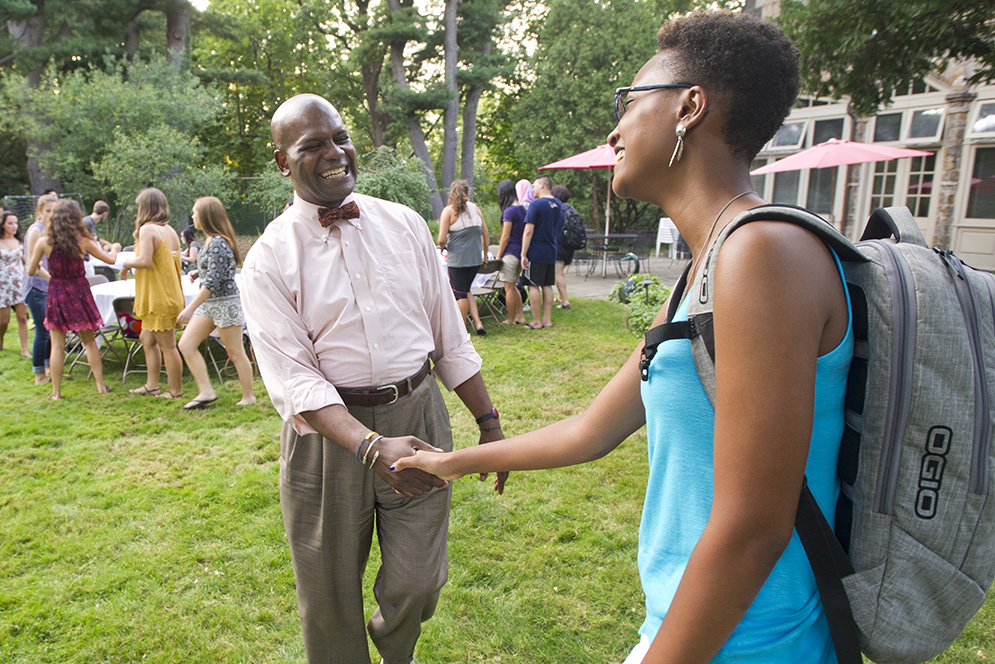
{"label": "grey OGIO backpack with straps on the woman's shoulders", "polygon": [[688,338],[715,402],[719,250],[756,220],[803,226],[832,247],[853,308],[835,534],[807,487],[795,522],[837,657],[859,664],[862,650],[879,664],[925,661],[957,638],[995,576],[995,276],[927,247],[904,207],[875,210],[853,245],[806,210],[761,206],[713,244],[690,287],[688,321],[646,333],[644,378],[657,344]]}

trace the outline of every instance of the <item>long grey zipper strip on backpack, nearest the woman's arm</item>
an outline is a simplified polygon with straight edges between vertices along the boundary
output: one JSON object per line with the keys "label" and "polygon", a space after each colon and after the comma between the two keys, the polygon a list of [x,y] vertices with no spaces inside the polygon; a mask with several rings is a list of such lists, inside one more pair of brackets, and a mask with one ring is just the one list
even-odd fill
{"label": "long grey zipper strip on backpack, nearest the woman's arm", "polygon": [[[898,485],[898,458],[902,452],[902,434],[908,421],[909,400],[912,384],[912,371],[915,358],[909,348],[915,348],[909,334],[915,334],[916,294],[912,275],[904,256],[894,244],[882,240],[871,240],[881,249],[881,257],[896,279],[889,282],[893,318],[896,329],[892,331],[894,344],[891,347],[891,385],[888,390],[888,416],[884,431],[882,462],[878,467],[877,490],[874,495],[874,511],[879,514],[892,514],[895,507],[895,488]],[[910,306],[911,303],[911,306]]]}

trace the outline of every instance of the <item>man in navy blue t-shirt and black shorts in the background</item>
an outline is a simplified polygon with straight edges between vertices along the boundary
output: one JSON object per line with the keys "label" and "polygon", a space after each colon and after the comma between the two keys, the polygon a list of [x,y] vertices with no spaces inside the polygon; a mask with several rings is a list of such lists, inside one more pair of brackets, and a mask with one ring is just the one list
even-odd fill
{"label": "man in navy blue t-shirt and black shorts in the background", "polygon": [[553,181],[540,175],[532,183],[536,199],[525,213],[522,268],[529,281],[529,329],[553,327],[553,284],[556,283],[556,243],[563,235],[563,204],[553,196]]}

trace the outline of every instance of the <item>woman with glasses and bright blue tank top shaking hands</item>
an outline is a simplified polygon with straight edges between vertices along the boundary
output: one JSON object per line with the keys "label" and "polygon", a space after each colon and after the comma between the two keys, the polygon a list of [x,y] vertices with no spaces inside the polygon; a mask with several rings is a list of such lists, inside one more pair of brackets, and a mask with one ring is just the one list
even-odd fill
{"label": "woman with glasses and bright blue tank top shaking hands", "polygon": [[[798,54],[773,23],[728,12],[669,21],[658,47],[616,93],[614,189],[667,211],[694,272],[721,229],[764,202],[750,161],[792,107]],[[808,231],[757,221],[729,237],[718,265],[714,408],[687,340],[659,346],[646,382],[640,344],[581,415],[452,454],[418,452],[395,467],[455,478],[582,463],[645,423],[646,617],[627,664],[834,662],[793,525],[806,475],[824,513],[839,492],[853,344],[839,263]]]}

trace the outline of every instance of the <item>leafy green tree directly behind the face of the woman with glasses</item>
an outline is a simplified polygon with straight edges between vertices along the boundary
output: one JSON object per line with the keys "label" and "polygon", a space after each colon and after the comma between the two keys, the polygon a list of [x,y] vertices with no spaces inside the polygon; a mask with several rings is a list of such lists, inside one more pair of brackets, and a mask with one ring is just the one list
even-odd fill
{"label": "leafy green tree directly behind the face of the woman with glasses", "polygon": [[[656,52],[662,16],[647,2],[551,0],[547,7],[529,28],[537,47],[527,68],[486,111],[483,133],[495,179],[534,178],[539,166],[604,143],[615,127],[615,88],[629,85]],[[550,175],[570,188],[571,205],[599,228],[607,169]],[[616,207],[612,227],[649,223],[658,213],[644,204]]]}

